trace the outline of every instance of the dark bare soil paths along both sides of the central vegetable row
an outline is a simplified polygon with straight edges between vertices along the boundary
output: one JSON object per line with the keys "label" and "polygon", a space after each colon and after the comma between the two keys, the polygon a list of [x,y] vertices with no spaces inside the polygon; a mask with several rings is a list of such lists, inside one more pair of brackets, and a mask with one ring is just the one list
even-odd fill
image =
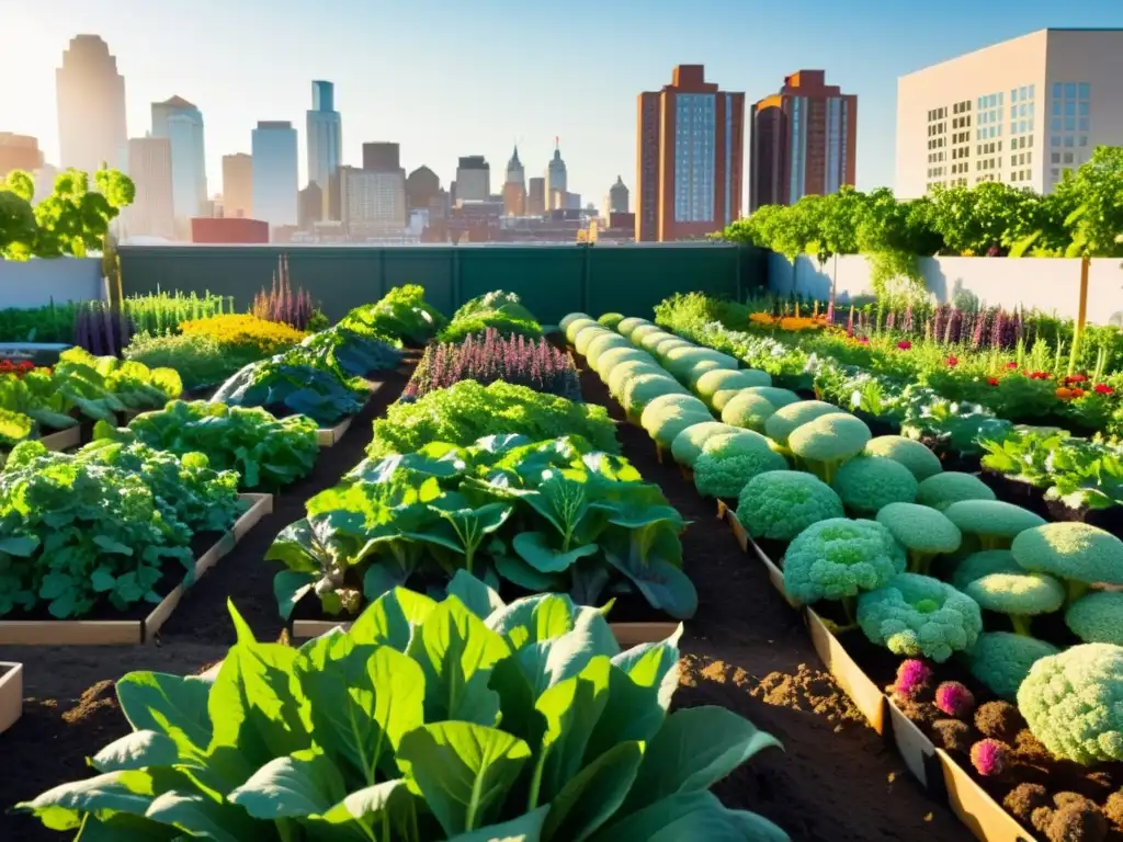
{"label": "dark bare soil paths along both sides of the central vegetable row", "polygon": [[[210,570],[165,624],[156,646],[9,648],[6,660],[25,663],[24,717],[0,735],[0,809],[84,774],[84,758],[128,731],[112,681],[134,669],[199,672],[232,642],[227,597],[262,639],[282,622],[262,561],[276,533],[303,515],[304,500],[334,484],[363,458],[368,424],[401,391],[392,377],[356,419],[344,440],[322,449],[314,473],[274,501],[274,513]],[[600,381],[582,376],[586,400],[619,408]],[[731,807],[776,822],[806,842],[967,842],[970,834],[909,777],[892,745],[875,734],[822,669],[800,616],[768,582],[764,567],[741,552],[674,465],[656,463],[642,430],[621,424],[624,454],[645,478],[693,521],[684,536],[686,569],[700,611],[686,624],[681,649],[679,706],[720,705],[784,743],[768,749],[715,788]],[[613,617],[623,620],[623,616]],[[44,665],[44,666],[39,666]],[[26,816],[0,815],[0,839],[58,840]]]}

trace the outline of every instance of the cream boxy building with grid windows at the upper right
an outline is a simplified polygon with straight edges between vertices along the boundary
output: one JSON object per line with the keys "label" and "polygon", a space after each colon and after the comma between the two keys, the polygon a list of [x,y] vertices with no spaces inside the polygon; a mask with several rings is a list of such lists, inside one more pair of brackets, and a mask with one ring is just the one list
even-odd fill
{"label": "cream boxy building with grid windows at the upper right", "polygon": [[1123,29],[1041,29],[897,80],[898,196],[1001,181],[1051,192],[1123,146]]}

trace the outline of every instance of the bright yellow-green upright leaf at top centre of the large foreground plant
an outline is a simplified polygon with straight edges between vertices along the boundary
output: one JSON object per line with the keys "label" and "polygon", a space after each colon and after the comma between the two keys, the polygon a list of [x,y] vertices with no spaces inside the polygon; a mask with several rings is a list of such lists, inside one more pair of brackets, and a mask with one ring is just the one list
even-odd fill
{"label": "bright yellow-green upright leaf at top centre of the large foreground plant", "polygon": [[499,696],[487,688],[491,667],[510,653],[503,638],[449,596],[426,617],[408,655],[424,671],[427,722],[495,724]]}

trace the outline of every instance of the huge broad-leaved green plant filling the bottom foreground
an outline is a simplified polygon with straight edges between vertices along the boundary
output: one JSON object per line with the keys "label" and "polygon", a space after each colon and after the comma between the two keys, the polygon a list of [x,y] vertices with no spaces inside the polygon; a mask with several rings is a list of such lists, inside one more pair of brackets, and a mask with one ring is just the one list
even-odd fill
{"label": "huge broad-leaved green plant filling the bottom foreground", "polygon": [[720,707],[668,713],[681,629],[621,652],[564,596],[504,605],[466,575],[450,591],[395,589],[300,649],[256,641],[231,606],[212,678],[125,676],[133,733],[17,808],[121,842],[787,839],[707,791],[779,743]]}

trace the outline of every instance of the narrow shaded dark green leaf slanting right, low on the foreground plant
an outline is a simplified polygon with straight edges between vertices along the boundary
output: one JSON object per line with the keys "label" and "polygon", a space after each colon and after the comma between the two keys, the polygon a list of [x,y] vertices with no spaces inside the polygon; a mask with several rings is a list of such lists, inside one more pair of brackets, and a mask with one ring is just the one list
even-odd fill
{"label": "narrow shaded dark green leaf slanting right, low on the foreground plant", "polygon": [[550,802],[542,838],[583,842],[593,835],[624,803],[642,759],[643,743],[622,742],[569,778]]}

